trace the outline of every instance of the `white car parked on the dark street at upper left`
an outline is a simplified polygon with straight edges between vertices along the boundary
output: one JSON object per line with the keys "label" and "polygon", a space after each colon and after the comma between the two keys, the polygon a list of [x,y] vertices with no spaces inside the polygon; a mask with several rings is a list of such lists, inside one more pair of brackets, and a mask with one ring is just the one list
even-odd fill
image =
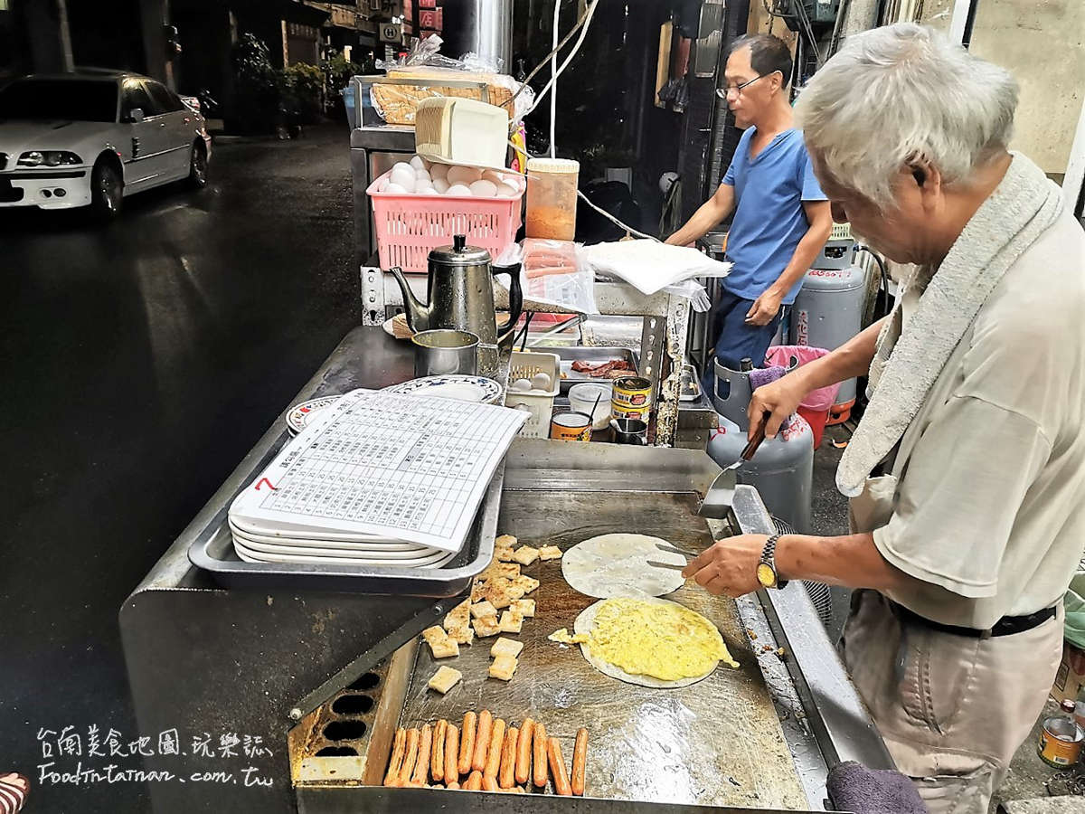
{"label": "white car parked on the dark street at upper left", "polygon": [[0,207],[110,218],[135,192],[203,187],[209,158],[203,116],[145,76],[35,75],[0,89]]}

